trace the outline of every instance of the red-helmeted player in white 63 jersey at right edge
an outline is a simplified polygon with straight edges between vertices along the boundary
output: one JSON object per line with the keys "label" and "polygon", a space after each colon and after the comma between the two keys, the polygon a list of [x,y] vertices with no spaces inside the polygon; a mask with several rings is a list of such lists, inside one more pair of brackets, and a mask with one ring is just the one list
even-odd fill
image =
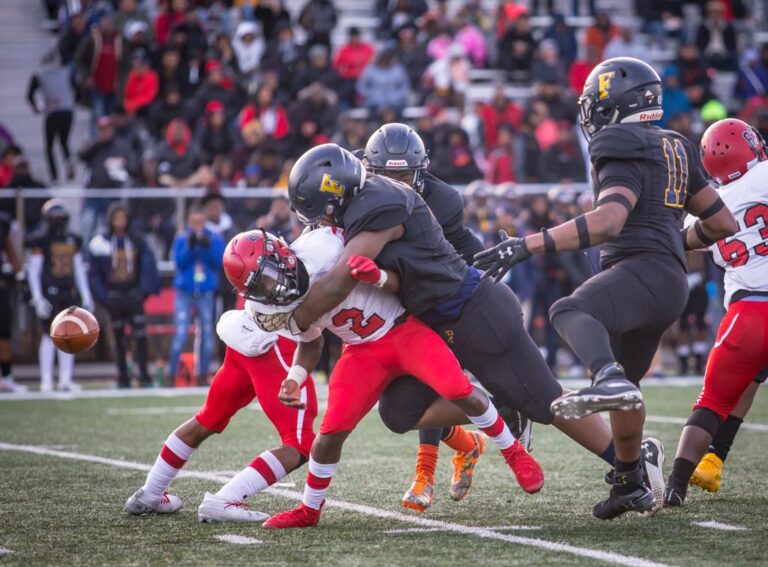
{"label": "red-helmeted player in white 63 jersey at right edge", "polygon": [[[768,154],[760,133],[745,122],[715,122],[701,139],[704,169],[738,221],[732,238],[710,244],[725,269],[725,306],[704,387],[683,428],[664,506],[682,506],[696,464],[713,437],[747,394],[755,376],[768,370]],[[695,226],[688,219],[686,229]],[[747,405],[747,408],[749,406]],[[744,412],[746,413],[746,412]],[[743,417],[744,413],[740,417]],[[735,435],[735,431],[734,431]],[[722,461],[720,461],[722,466]],[[719,479],[718,479],[719,487]]]}

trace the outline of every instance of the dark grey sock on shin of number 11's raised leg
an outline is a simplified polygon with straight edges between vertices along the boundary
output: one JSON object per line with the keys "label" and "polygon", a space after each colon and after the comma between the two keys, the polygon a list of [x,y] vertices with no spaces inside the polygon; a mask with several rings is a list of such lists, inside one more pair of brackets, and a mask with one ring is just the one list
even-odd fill
{"label": "dark grey sock on shin of number 11's raised leg", "polygon": [[615,362],[608,331],[591,315],[583,311],[560,311],[552,317],[552,326],[593,376],[606,364]]}

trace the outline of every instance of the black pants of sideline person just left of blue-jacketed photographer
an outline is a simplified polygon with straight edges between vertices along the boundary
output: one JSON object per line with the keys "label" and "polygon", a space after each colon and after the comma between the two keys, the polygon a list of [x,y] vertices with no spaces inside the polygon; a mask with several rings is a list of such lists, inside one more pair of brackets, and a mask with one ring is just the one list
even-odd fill
{"label": "black pants of sideline person just left of blue-jacketed photographer", "polygon": [[136,345],[136,364],[139,367],[139,379],[142,384],[151,383],[147,370],[147,316],[144,314],[144,302],[141,297],[126,294],[120,297],[110,297],[107,305],[112,320],[112,333],[115,337],[115,358],[117,359],[117,384],[130,387],[128,361],[126,350],[125,328],[130,325],[131,336]]}

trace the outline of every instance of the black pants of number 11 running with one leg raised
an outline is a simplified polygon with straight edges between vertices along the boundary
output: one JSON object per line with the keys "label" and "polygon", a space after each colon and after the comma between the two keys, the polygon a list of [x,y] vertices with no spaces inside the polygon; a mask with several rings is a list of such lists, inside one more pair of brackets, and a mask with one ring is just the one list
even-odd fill
{"label": "black pants of number 11 running with one leg raised", "polygon": [[677,258],[639,254],[588,279],[555,303],[550,317],[593,374],[616,361],[637,384],[687,301],[688,281]]}

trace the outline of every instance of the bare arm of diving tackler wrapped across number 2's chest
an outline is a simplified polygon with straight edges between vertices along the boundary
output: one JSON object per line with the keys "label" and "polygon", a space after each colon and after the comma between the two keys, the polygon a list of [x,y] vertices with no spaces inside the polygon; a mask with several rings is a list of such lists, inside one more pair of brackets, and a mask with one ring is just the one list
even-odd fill
{"label": "bare arm of diving tackler wrapped across number 2's chest", "polygon": [[293,322],[298,328],[308,329],[312,323],[344,301],[357,285],[347,265],[352,256],[376,258],[388,242],[397,240],[403,232],[402,225],[376,232],[363,231],[347,242],[331,271],[312,285],[301,306],[293,312]]}

